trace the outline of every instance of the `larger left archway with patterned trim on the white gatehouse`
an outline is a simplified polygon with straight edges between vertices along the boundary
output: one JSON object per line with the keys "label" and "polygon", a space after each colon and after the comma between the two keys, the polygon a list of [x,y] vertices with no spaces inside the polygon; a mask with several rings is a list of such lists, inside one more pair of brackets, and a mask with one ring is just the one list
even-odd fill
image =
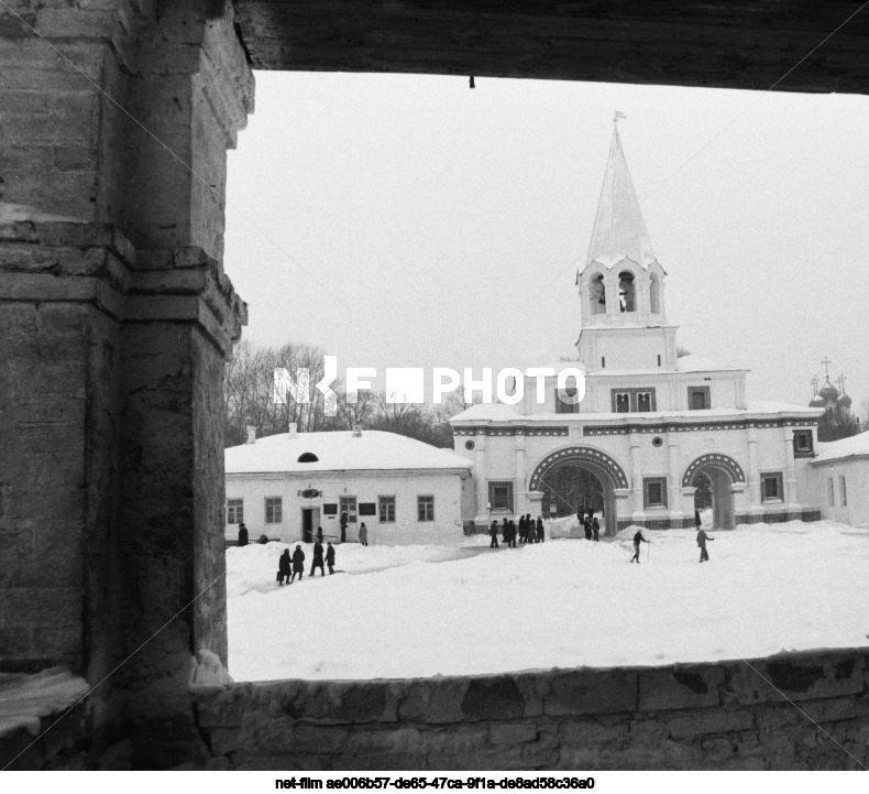
{"label": "larger left archway with patterned trim on the white gatehouse", "polygon": [[[600,488],[594,489],[600,493],[600,501],[596,498],[586,501],[584,494],[582,498],[578,498],[578,494],[566,493],[563,487],[550,481],[558,470],[568,467],[592,475],[594,480],[600,483]],[[605,532],[609,535],[616,532],[616,489],[627,488],[628,478],[618,461],[601,449],[585,446],[564,447],[550,453],[537,464],[528,480],[529,491],[546,494],[549,500],[552,500],[550,503],[559,503],[562,507],[570,505],[571,512],[583,507],[583,502],[595,511],[601,505]]]}

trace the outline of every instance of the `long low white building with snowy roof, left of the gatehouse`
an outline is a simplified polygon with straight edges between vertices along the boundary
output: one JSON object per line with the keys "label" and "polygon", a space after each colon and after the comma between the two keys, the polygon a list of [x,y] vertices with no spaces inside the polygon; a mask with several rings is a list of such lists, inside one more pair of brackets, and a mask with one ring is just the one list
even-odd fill
{"label": "long low white building with snowy roof, left of the gatehouse", "polygon": [[[252,429],[252,428],[251,428]],[[471,463],[450,449],[382,431],[282,433],[224,453],[226,537],[310,541],[322,526],[340,540],[369,544],[461,543],[463,490],[472,498]]]}

